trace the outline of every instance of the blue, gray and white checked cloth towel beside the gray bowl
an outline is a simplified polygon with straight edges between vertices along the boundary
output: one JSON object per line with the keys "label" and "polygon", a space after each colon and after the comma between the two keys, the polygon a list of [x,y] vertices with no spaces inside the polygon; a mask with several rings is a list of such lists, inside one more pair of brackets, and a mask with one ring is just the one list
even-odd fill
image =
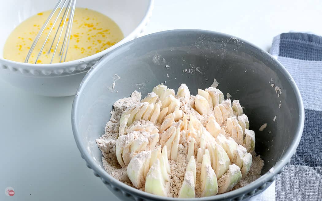
{"label": "blue, gray and white checked cloth towel beside the gray bowl", "polygon": [[322,201],[322,37],[282,33],[270,54],[294,78],[304,102],[302,139],[283,172],[257,200]]}

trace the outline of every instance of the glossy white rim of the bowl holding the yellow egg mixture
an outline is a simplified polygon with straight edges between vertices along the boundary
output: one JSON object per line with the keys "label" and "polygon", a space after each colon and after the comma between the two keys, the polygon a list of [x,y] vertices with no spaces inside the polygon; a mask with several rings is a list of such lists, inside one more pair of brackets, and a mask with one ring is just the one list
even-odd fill
{"label": "glossy white rim of the bowl holding the yellow egg mixture", "polygon": [[[122,40],[118,41],[117,43],[115,43],[114,45],[112,45],[111,47],[100,51],[98,53],[95,53],[93,55],[90,55],[88,57],[84,57],[81,59],[76,59],[76,60],[71,60],[71,61],[66,61],[66,62],[62,62],[62,63],[52,63],[52,64],[32,64],[32,63],[24,63],[24,62],[18,62],[18,61],[13,61],[13,60],[9,60],[9,59],[5,59],[2,56],[0,57],[0,61],[1,62],[5,62],[6,65],[12,65],[12,66],[24,66],[26,68],[34,68],[36,67],[37,69],[46,69],[46,68],[60,68],[60,69],[64,69],[64,68],[68,68],[70,66],[73,65],[77,65],[79,63],[84,63],[84,62],[89,62],[95,59],[99,59],[101,57],[103,57],[104,55],[106,55],[108,52],[115,50],[116,48],[118,48],[119,46],[125,44],[128,41],[131,41],[132,38],[134,38],[136,36],[136,34],[139,34],[140,31],[142,30],[142,28],[145,26],[145,24],[148,22],[148,19],[151,15],[151,12],[153,10],[153,5],[154,5],[154,0],[148,0],[148,6],[147,6],[147,10],[141,20],[141,22],[137,25],[137,27],[130,32],[130,34],[128,34],[128,36],[124,37]],[[112,19],[113,20],[113,19]]]}

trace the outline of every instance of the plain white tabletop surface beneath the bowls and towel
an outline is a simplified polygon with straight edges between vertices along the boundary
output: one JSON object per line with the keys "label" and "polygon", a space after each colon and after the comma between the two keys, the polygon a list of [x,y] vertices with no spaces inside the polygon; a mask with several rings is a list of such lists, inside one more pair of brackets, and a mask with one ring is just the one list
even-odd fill
{"label": "plain white tabletop surface beneath the bowls and towel", "polygon": [[[207,29],[269,50],[281,32],[321,35],[321,10],[318,0],[156,0],[144,34]],[[2,80],[0,94],[0,200],[118,200],[81,159],[71,131],[73,97],[36,96]],[[6,196],[6,187],[15,195]]]}

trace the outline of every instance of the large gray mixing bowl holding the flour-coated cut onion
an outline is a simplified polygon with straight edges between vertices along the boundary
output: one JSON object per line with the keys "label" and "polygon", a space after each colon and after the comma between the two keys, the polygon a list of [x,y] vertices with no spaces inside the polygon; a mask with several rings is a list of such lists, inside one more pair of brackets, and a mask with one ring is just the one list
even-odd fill
{"label": "large gray mixing bowl holding the flour-coated cut onion", "polygon": [[[264,191],[289,163],[301,139],[302,99],[292,77],[270,54],[212,31],[153,33],[118,47],[96,63],[83,79],[72,108],[74,137],[87,166],[123,200],[183,200],[148,194],[111,177],[102,166],[95,139],[104,133],[112,104],[134,90],[144,97],[161,82],[175,90],[185,83],[191,94],[196,94],[197,88],[209,87],[214,78],[224,94],[229,92],[245,106],[256,133],[256,152],[265,164],[262,176],[245,187],[189,200],[243,200]],[[280,87],[279,97],[271,84]],[[264,123],[267,128],[260,132]]]}

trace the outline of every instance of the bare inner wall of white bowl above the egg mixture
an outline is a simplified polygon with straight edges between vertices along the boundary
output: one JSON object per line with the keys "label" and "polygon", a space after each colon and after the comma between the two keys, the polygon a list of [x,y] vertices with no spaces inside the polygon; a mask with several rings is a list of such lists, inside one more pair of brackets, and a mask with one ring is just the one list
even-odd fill
{"label": "bare inner wall of white bowl above the egg mixture", "polygon": [[[4,20],[0,23],[0,57],[3,57],[6,39],[19,23],[34,14],[53,9],[56,4],[57,0],[47,0],[46,3],[42,0],[11,0],[2,4],[0,12]],[[77,0],[76,7],[89,8],[107,15],[127,37],[140,24],[149,4],[149,0]]]}

